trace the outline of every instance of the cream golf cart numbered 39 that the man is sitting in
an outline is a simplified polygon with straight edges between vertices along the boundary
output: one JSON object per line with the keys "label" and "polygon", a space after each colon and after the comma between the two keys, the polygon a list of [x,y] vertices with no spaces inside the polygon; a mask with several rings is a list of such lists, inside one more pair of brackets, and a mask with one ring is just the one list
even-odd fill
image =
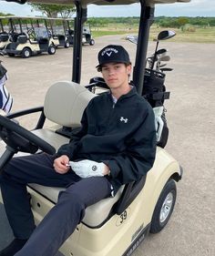
{"label": "cream golf cart numbered 39 that the man is sitting in", "polygon": [[[32,2],[71,4],[71,1],[60,0],[32,0]],[[138,45],[133,70],[133,82],[140,95],[143,95],[144,89],[149,27],[153,20],[155,4],[161,2],[168,4],[177,1],[140,1]],[[179,0],[179,2],[189,2],[189,0]],[[72,81],[58,81],[52,85],[46,93],[43,107],[10,114],[7,118],[0,117],[1,137],[7,144],[0,159],[0,169],[18,151],[33,154],[40,148],[47,153],[54,153],[60,145],[67,143],[70,133],[80,126],[80,118],[88,101],[92,97],[97,97],[84,85],[80,85],[83,24],[87,19],[87,5],[92,3],[129,5],[134,1],[116,0],[111,3],[102,0],[74,1],[77,6],[77,18]],[[100,79],[93,80],[94,86],[103,87]],[[41,111],[41,116],[32,132],[10,120],[38,111]],[[44,128],[46,119],[56,125]],[[126,184],[119,189],[114,198],[101,200],[88,207],[85,218],[60,251],[67,256],[131,255],[148,232],[157,233],[168,223],[176,200],[176,183],[181,176],[182,169],[178,161],[173,159],[165,148],[158,146],[154,166],[148,171],[147,176],[139,179],[138,182]],[[55,205],[60,190],[61,188],[29,184],[28,191],[36,223],[42,220],[48,210]]]}

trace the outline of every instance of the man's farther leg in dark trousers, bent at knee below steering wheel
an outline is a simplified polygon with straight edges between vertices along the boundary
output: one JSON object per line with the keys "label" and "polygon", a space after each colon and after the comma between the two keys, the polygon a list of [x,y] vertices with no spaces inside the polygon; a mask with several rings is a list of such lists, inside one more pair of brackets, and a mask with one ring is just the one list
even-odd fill
{"label": "man's farther leg in dark trousers, bent at knee below steering wheel", "polygon": [[[26,191],[27,183],[67,187],[68,184],[77,180],[79,178],[74,175],[74,172],[65,175],[56,173],[53,169],[53,157],[46,154],[12,159],[0,175],[0,186],[5,212],[15,238],[27,240],[35,230]],[[13,247],[15,248],[15,244]]]}

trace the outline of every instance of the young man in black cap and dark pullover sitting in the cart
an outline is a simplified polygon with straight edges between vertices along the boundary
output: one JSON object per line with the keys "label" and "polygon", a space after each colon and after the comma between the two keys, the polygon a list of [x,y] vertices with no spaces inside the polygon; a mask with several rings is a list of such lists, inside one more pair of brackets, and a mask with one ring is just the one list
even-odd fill
{"label": "young man in black cap and dark pullover sitting in the cart", "polygon": [[[128,83],[131,63],[122,46],[98,53],[110,92],[94,97],[70,143],[47,154],[14,158],[0,178],[15,240],[0,256],[52,256],[83,219],[87,206],[114,196],[122,184],[151,169],[156,152],[154,114]],[[36,227],[26,184],[64,187],[56,206]]]}

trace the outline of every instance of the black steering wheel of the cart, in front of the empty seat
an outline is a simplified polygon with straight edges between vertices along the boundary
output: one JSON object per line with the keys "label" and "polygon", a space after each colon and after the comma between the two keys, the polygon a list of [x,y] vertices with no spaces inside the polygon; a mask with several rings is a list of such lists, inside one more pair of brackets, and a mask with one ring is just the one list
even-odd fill
{"label": "black steering wheel of the cart, in front of the empty seat", "polygon": [[0,115],[0,137],[13,155],[18,151],[35,154],[38,149],[54,154],[56,149],[31,131]]}

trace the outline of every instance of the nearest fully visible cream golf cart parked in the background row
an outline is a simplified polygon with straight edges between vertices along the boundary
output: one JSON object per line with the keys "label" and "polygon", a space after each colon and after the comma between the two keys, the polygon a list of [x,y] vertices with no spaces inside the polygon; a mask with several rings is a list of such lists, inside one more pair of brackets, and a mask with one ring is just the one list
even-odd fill
{"label": "nearest fully visible cream golf cart parked in the background row", "polygon": [[[5,46],[8,56],[22,56],[24,58],[47,52],[49,55],[56,53],[56,47],[48,36],[46,26],[40,26],[39,19],[34,17],[5,16],[10,24],[11,42]],[[26,21],[31,25],[24,27]],[[36,26],[33,25],[34,21]]]}

